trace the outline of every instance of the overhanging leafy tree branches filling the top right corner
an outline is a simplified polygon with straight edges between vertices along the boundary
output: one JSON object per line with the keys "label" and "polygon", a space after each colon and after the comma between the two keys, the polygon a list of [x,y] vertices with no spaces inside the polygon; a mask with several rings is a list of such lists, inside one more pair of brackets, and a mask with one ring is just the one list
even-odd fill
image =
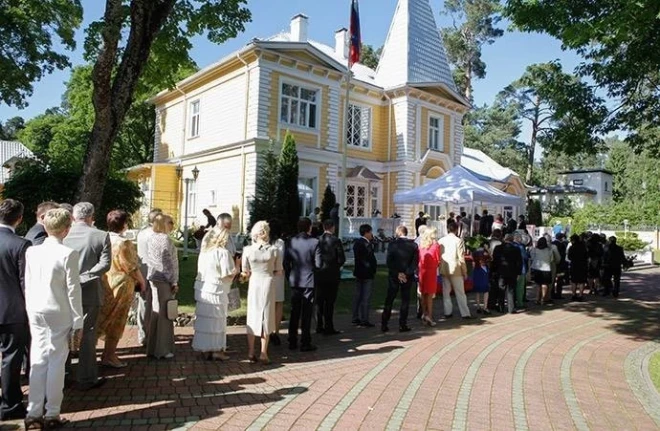
{"label": "overhanging leafy tree branches filling the top right corner", "polygon": [[[509,0],[506,14],[523,31],[545,32],[574,50],[588,77],[615,104],[605,131],[628,131],[637,149],[660,152],[660,4],[655,0]],[[564,142],[565,150],[584,145]]]}

